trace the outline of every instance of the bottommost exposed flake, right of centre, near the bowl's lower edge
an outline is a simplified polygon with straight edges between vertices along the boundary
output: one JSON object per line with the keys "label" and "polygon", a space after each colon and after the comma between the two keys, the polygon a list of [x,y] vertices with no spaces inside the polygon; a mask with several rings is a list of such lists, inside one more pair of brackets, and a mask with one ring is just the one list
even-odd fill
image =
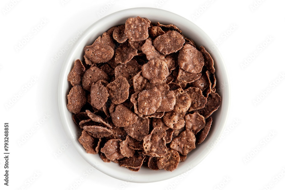
{"label": "bottommost exposed flake, right of centre, near the bowl's lower edge", "polygon": [[173,171],[177,168],[180,161],[179,153],[176,150],[168,149],[167,153],[157,158],[157,166],[159,169],[165,169],[166,171]]}

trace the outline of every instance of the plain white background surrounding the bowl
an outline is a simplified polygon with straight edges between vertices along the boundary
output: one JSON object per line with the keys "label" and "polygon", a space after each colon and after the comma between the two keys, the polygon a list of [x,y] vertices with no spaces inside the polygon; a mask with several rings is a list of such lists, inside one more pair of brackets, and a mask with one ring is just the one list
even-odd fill
{"label": "plain white background surrounding the bowl", "polygon": [[[0,152],[4,122],[10,124],[11,152],[9,187],[3,185],[0,157],[0,189],[72,189],[80,177],[84,180],[75,189],[284,189],[284,1],[114,0],[100,17],[110,0],[66,1],[0,3]],[[231,83],[229,118],[213,151],[186,175],[149,184],[125,183],[96,169],[84,175],[91,166],[72,145],[64,148],[69,139],[57,105],[58,79],[67,54],[61,49],[70,47],[78,31],[102,16],[132,7],[165,9],[197,24],[217,42]],[[32,38],[16,48],[29,34]],[[59,59],[52,62],[56,55]],[[249,63],[242,67],[245,59]],[[14,102],[9,107],[10,100]]]}

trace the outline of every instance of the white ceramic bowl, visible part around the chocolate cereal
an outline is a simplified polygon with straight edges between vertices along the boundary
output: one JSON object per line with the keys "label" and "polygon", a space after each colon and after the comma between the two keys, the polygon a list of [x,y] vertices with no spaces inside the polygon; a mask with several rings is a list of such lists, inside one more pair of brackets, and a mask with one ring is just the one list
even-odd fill
{"label": "white ceramic bowl, visible part around the chocolate cereal", "polygon": [[[197,146],[196,149],[191,151],[187,155],[187,159],[184,162],[180,162],[177,169],[174,171],[153,171],[149,168],[142,167],[140,171],[133,172],[125,167],[120,167],[119,164],[104,163],[99,155],[87,154],[83,146],[78,142],[80,137],[80,132],[78,126],[72,120],[72,113],[70,113],[66,107],[67,105],[67,95],[71,89],[70,83],[67,81],[67,75],[72,70],[74,61],[76,59],[83,60],[84,47],[91,45],[98,36],[101,36],[103,32],[107,31],[112,26],[117,26],[124,24],[129,17],[144,17],[148,18],[152,23],[160,22],[162,24],[174,24],[182,30],[182,33],[194,40],[196,45],[200,47],[203,45],[206,50],[208,50],[213,57],[217,76],[217,92],[222,98],[222,104],[220,108],[213,114],[213,124],[209,135],[203,143]],[[230,104],[230,89],[229,89],[229,78],[227,70],[225,68],[225,63],[221,57],[221,54],[215,47],[214,42],[191,21],[176,15],[174,13],[164,11],[161,9],[154,8],[132,8],[125,9],[107,15],[100,19],[99,21],[92,24],[86,29],[82,37],[74,44],[72,49],[70,49],[66,60],[62,66],[62,71],[60,74],[59,86],[58,86],[58,105],[60,111],[60,117],[62,119],[62,124],[68,134],[72,143],[78,153],[93,167],[99,171],[123,180],[131,181],[137,183],[149,183],[162,181],[165,179],[170,179],[176,177],[186,171],[192,169],[197,164],[199,164],[212,150],[214,141],[217,140],[221,133],[223,132],[224,126],[226,124],[229,104]],[[211,48],[213,50],[211,50]],[[80,163],[77,163],[80,164]],[[134,177],[131,177],[134,176]]]}

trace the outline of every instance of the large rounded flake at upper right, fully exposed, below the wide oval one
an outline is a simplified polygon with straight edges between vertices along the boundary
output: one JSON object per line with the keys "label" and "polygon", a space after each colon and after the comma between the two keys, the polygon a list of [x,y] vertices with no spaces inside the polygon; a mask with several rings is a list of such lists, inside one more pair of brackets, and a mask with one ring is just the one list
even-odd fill
{"label": "large rounded flake at upper right, fully exposed, below the wide oval one", "polygon": [[194,46],[185,44],[179,52],[178,65],[184,71],[200,73],[204,66],[203,54]]}

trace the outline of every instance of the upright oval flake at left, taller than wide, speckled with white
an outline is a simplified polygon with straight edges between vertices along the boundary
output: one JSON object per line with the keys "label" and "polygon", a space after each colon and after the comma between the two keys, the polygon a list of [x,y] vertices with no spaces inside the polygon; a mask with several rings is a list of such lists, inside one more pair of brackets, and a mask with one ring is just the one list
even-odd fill
{"label": "upright oval flake at left, taller than wide, speckled with white", "polygon": [[109,97],[109,93],[106,87],[102,85],[101,80],[92,84],[90,94],[91,105],[96,109],[101,109]]}

